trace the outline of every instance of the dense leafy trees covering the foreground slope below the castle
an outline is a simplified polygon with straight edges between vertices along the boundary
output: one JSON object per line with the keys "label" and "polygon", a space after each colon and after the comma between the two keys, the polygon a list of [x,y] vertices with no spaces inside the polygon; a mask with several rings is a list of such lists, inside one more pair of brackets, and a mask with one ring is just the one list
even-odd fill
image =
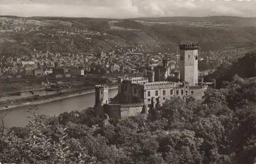
{"label": "dense leafy trees covering the foreground slope below the castle", "polygon": [[102,121],[93,109],[49,118],[30,109],[25,128],[8,129],[0,161],[15,163],[252,163],[256,154],[254,79],[234,76],[202,104],[173,99],[145,118]]}

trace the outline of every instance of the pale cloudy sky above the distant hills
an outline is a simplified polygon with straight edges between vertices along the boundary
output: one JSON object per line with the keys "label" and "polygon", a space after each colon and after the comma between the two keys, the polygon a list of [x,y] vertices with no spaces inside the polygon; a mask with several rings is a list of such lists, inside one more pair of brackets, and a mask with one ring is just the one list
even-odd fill
{"label": "pale cloudy sky above the distant hills", "polygon": [[256,17],[256,0],[0,0],[0,15],[134,18]]}

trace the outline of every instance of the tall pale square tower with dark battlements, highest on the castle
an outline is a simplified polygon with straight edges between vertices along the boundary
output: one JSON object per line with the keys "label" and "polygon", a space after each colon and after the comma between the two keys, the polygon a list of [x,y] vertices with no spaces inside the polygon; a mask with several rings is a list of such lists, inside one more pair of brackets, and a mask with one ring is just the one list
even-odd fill
{"label": "tall pale square tower with dark battlements, highest on the castle", "polygon": [[180,80],[198,84],[198,44],[180,44]]}

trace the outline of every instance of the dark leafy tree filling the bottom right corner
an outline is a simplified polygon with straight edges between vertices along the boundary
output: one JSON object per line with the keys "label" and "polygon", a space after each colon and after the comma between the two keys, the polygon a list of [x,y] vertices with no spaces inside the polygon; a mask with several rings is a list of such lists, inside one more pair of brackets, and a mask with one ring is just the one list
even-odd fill
{"label": "dark leafy tree filling the bottom right corner", "polygon": [[255,103],[241,107],[233,117],[233,129],[228,135],[230,146],[236,153],[237,163],[253,163],[256,150]]}

